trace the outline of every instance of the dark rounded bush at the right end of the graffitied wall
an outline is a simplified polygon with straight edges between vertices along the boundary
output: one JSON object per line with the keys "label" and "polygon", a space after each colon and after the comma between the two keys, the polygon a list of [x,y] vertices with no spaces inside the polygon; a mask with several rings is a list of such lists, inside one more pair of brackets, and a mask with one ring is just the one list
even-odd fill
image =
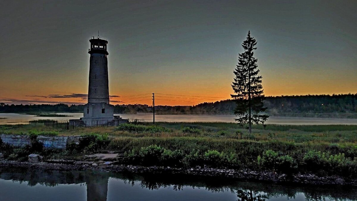
{"label": "dark rounded bush at the right end of the graffitied wall", "polygon": [[110,139],[108,134],[89,133],[79,139],[79,149],[85,153],[96,152],[108,146]]}

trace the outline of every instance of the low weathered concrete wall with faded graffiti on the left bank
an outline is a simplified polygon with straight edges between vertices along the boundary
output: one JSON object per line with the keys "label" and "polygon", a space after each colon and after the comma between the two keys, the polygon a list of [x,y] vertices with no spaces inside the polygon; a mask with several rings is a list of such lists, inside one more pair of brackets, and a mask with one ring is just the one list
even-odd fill
{"label": "low weathered concrete wall with faded graffiti on the left bank", "polygon": [[[42,142],[45,148],[65,149],[69,143],[79,143],[78,136],[37,136],[37,140]],[[11,144],[12,146],[22,147],[31,144],[29,136],[6,135],[1,134],[3,143]]]}

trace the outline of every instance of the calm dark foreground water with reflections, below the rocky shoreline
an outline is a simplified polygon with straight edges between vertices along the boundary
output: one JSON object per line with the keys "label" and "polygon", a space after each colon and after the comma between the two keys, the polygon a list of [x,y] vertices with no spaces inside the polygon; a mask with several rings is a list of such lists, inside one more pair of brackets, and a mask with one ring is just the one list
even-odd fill
{"label": "calm dark foreground water with reflections, below the rocky shoreline", "polygon": [[0,200],[357,199],[356,189],[338,186],[282,186],[215,177],[21,168],[0,168],[0,191]]}

